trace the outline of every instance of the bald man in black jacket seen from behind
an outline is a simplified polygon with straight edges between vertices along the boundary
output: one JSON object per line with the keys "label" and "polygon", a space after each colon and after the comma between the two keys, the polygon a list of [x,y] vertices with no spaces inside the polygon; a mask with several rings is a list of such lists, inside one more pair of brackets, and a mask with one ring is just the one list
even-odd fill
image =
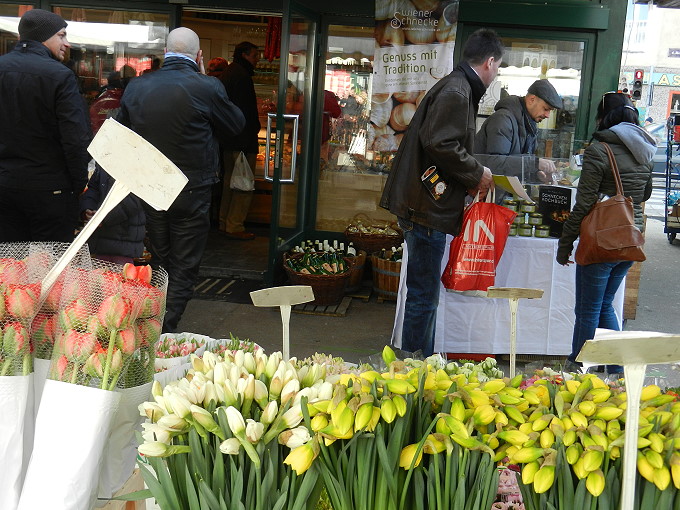
{"label": "bald man in black jacket seen from behind", "polygon": [[168,211],[145,204],[151,263],[169,274],[163,332],[172,333],[191,299],[208,238],[219,142],[241,133],[245,120],[219,80],[206,76],[198,35],[184,27],[168,35],[163,66],[127,86],[116,120],[151,142],[189,179]]}

